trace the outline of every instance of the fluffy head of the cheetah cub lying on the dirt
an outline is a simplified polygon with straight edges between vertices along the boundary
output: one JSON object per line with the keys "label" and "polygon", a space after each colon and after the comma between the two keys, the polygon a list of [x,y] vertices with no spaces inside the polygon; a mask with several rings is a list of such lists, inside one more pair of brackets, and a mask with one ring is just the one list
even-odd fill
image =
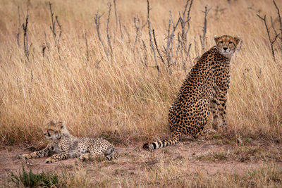
{"label": "fluffy head of the cheetah cub lying on the dirt", "polygon": [[47,139],[59,139],[64,133],[68,133],[66,121],[51,120],[44,129],[44,136]]}

